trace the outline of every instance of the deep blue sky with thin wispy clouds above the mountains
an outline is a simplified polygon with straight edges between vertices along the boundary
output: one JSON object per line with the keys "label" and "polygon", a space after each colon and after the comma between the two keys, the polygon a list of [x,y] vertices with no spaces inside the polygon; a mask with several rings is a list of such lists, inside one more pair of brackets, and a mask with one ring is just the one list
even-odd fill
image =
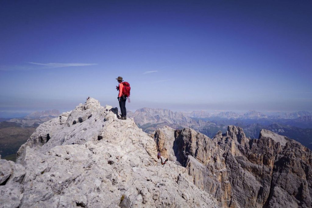
{"label": "deep blue sky with thin wispy clouds above the mountains", "polygon": [[73,109],[312,111],[312,1],[0,2],[0,117]]}

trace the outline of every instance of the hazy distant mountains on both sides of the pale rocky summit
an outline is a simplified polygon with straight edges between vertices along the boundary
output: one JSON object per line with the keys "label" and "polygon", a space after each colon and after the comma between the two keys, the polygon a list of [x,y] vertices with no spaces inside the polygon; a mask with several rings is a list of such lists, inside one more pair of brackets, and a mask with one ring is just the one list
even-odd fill
{"label": "hazy distant mountains on both sides of the pale rocky summit", "polygon": [[[37,126],[59,115],[58,110],[49,110],[34,112],[23,118],[2,119],[0,154],[15,154],[20,144],[29,138]],[[225,132],[228,125],[236,125],[243,128],[246,136],[251,138],[258,138],[261,129],[268,129],[293,138],[312,149],[312,114],[308,111],[270,114],[248,111],[239,114],[233,111],[173,112],[168,109],[141,108],[135,112],[128,111],[127,115],[133,117],[135,123],[150,134],[157,128],[170,126],[174,129],[192,128],[213,137],[218,131]]]}

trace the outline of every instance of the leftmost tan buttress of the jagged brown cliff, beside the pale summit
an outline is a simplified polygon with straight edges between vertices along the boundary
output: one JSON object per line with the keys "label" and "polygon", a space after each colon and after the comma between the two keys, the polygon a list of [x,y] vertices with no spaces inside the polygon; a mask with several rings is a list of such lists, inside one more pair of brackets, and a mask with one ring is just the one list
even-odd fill
{"label": "leftmost tan buttress of the jagged brown cliff, beside the pale summit", "polygon": [[[168,131],[172,131],[171,133]],[[168,135],[168,144],[172,144],[170,159],[185,166],[188,174],[193,177],[194,184],[212,194],[220,206],[227,205],[227,196],[231,195],[231,186],[227,178],[223,150],[209,137],[194,131],[193,129],[174,130],[163,127],[157,129],[152,135],[158,148],[165,141],[164,135]],[[172,138],[174,135],[174,138]],[[224,186],[222,186],[222,184]]]}

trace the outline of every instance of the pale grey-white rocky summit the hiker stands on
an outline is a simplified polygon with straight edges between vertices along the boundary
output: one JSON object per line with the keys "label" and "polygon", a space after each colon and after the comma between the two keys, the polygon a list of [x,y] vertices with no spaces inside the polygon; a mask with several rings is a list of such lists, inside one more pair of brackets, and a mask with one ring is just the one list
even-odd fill
{"label": "pale grey-white rocky summit the hiker stands on", "polygon": [[133,119],[90,98],[0,160],[1,207],[217,207],[182,166],[157,160]]}

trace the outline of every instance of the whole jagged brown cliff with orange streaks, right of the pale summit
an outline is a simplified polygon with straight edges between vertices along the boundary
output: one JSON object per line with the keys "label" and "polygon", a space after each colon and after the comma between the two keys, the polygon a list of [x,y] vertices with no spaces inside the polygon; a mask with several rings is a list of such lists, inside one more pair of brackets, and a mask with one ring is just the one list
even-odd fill
{"label": "whole jagged brown cliff with orange streaks, right of the pale summit", "polygon": [[220,206],[312,206],[312,153],[285,136],[262,130],[259,139],[249,139],[236,126],[213,139],[192,129],[170,133],[169,127],[152,136],[158,150],[185,166]]}

